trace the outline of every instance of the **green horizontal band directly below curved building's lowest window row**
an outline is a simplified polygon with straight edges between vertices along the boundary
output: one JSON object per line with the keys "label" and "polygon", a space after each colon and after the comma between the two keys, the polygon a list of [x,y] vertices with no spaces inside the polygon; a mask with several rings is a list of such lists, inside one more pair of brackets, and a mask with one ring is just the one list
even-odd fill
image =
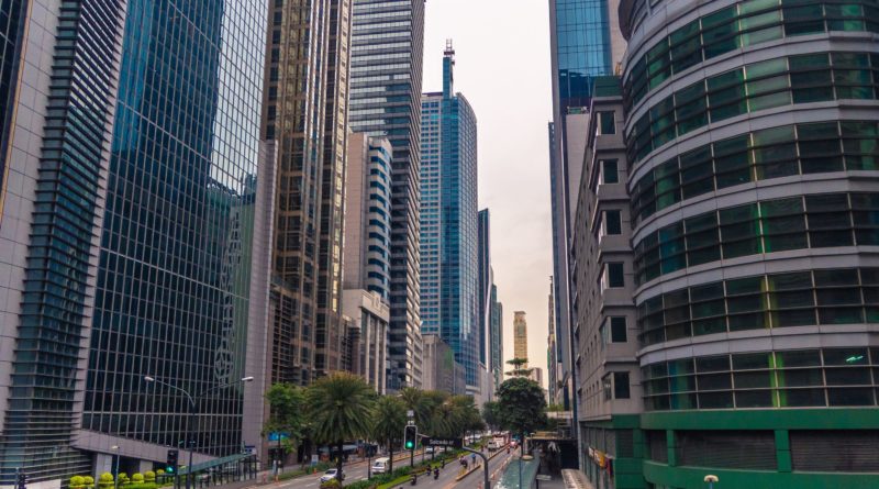
{"label": "green horizontal band directly below curved building's lowest window row", "polygon": [[879,409],[754,409],[649,412],[644,430],[877,430]]}

